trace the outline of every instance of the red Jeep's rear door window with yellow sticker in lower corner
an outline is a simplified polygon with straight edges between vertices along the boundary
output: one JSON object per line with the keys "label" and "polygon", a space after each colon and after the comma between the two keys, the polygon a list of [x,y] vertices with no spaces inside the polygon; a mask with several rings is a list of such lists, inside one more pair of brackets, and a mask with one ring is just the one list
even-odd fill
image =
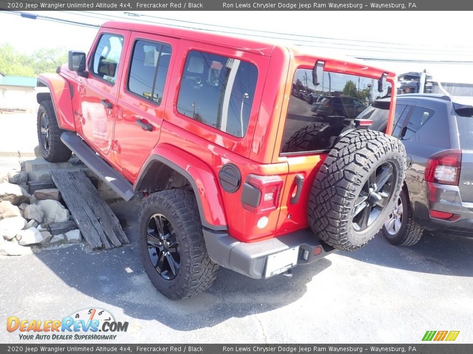
{"label": "red Jeep's rear door window with yellow sticker in lower corner", "polygon": [[128,89],[159,105],[163,99],[170,57],[169,45],[137,40],[133,49]]}

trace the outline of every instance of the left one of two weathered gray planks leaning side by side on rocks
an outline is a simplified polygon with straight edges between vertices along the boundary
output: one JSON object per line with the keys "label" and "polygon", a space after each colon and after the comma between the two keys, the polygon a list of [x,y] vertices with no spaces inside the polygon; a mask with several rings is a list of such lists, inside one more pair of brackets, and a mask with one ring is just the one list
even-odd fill
{"label": "left one of two weathered gray planks leaning side by side on rocks", "polygon": [[82,191],[79,192],[75,187],[69,173],[63,170],[52,170],[50,174],[61,192],[82,236],[84,236],[92,249],[101,247],[105,247],[105,249],[112,248],[99,220],[82,197]]}

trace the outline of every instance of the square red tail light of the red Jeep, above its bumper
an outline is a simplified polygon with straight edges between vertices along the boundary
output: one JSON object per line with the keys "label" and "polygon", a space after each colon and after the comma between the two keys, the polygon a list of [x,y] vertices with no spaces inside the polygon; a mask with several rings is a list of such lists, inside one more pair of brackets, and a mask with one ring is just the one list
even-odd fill
{"label": "square red tail light of the red Jeep, above its bumper", "polygon": [[243,185],[241,203],[255,214],[277,208],[282,178],[279,176],[249,175]]}

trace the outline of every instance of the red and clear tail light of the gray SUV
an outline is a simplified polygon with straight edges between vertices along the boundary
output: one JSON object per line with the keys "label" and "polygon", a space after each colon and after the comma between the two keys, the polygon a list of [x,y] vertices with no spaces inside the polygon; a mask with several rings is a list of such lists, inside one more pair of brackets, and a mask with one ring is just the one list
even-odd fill
{"label": "red and clear tail light of the gray SUV", "polygon": [[458,185],[462,167],[460,150],[445,150],[429,158],[424,179],[428,182]]}

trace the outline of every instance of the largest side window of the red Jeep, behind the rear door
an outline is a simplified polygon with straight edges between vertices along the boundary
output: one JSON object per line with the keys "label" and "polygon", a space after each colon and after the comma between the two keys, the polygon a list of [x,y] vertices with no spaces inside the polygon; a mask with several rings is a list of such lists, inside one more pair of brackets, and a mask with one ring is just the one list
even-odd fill
{"label": "largest side window of the red Jeep, behind the rear door", "polygon": [[236,137],[246,134],[258,79],[250,62],[190,51],[177,111]]}

